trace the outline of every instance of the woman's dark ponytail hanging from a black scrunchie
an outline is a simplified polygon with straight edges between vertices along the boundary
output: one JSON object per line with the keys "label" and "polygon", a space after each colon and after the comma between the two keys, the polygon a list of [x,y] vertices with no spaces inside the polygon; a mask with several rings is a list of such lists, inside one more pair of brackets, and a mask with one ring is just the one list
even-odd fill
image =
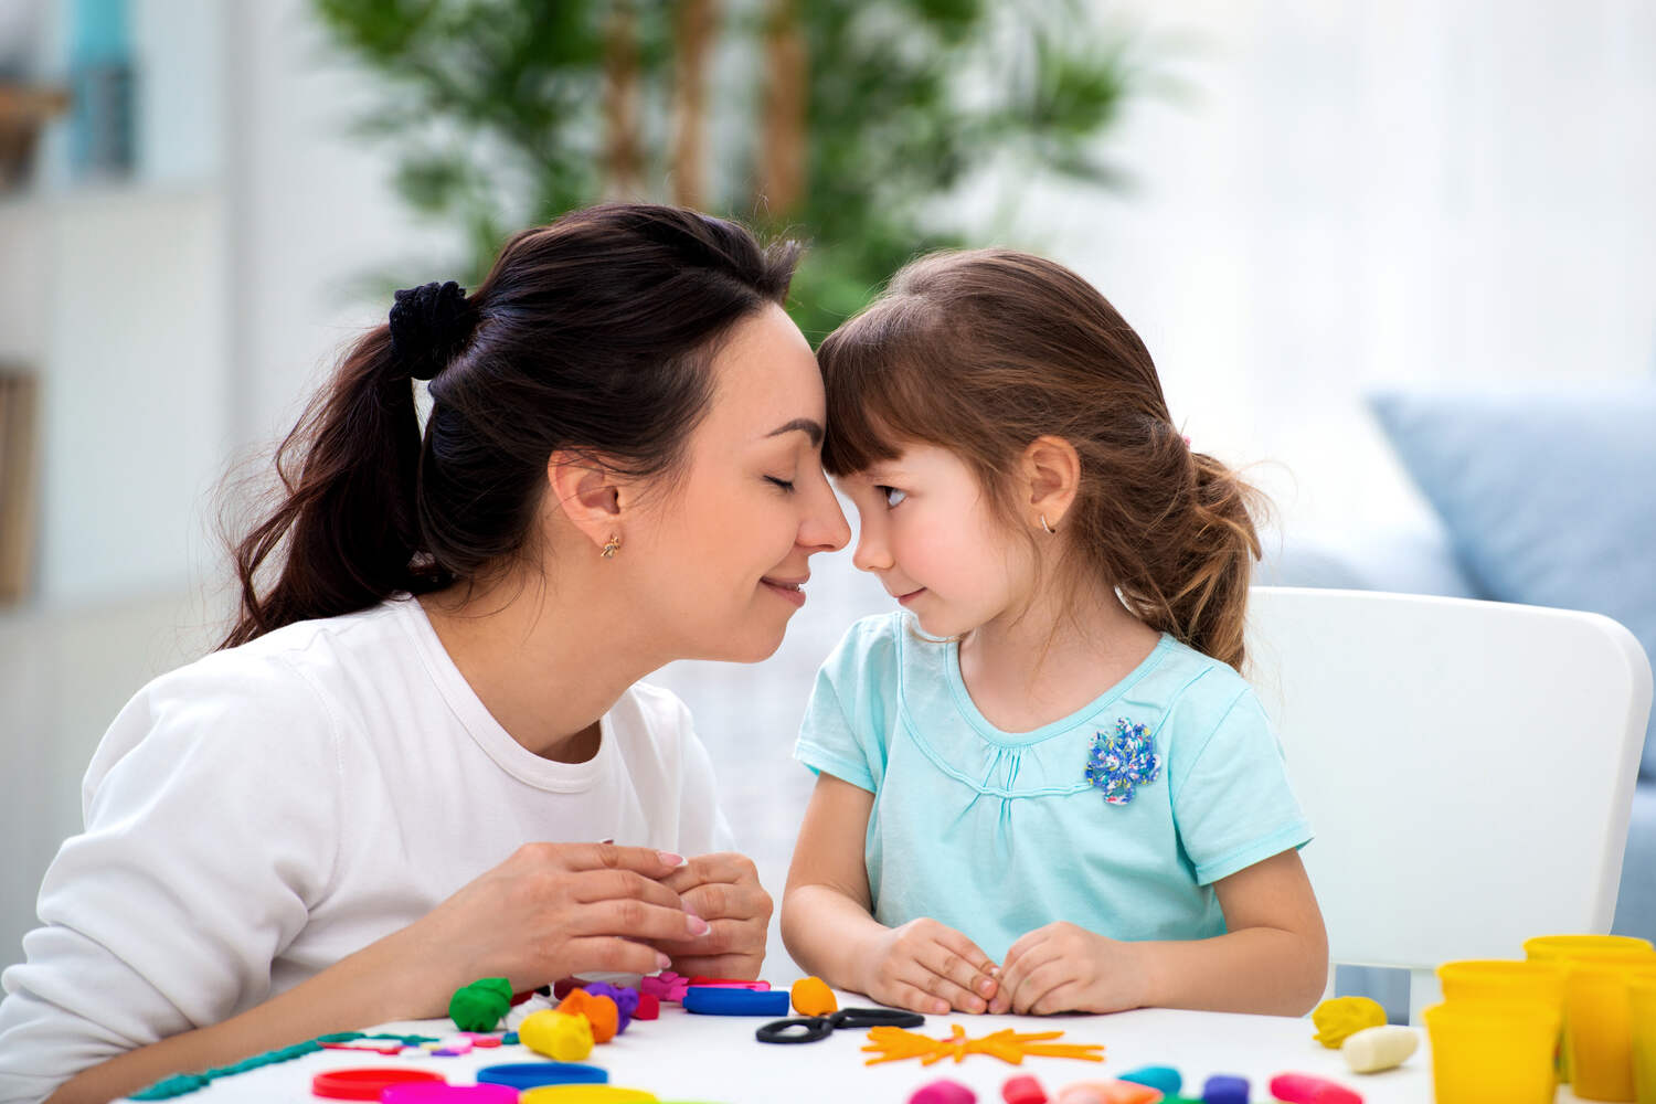
{"label": "woman's dark ponytail hanging from a black scrunchie", "polygon": [[[474,324],[464,290],[431,283],[397,291],[389,323],[351,348],[277,449],[285,498],[233,550],[242,607],[220,647],[447,583],[421,554],[414,381],[442,371]],[[278,548],[280,574],[260,593]]]}

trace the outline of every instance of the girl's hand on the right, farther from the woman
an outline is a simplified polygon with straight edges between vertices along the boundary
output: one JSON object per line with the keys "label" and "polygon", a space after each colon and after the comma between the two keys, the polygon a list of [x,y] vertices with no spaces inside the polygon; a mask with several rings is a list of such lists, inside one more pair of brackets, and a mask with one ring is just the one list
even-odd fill
{"label": "girl's hand on the right, farther from the woman", "polygon": [[1134,943],[1060,922],[1035,929],[1012,945],[989,1011],[1035,1016],[1123,1011],[1141,1006],[1146,990],[1143,955]]}

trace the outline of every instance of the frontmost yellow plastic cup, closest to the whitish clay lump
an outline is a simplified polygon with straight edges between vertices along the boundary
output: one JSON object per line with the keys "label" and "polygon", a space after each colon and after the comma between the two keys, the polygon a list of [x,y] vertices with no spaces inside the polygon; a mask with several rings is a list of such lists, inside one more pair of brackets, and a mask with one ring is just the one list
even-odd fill
{"label": "frontmost yellow plastic cup, closest to the whitish clay lump", "polygon": [[1558,1010],[1540,1001],[1451,1000],[1424,1013],[1437,1104],[1552,1104]]}

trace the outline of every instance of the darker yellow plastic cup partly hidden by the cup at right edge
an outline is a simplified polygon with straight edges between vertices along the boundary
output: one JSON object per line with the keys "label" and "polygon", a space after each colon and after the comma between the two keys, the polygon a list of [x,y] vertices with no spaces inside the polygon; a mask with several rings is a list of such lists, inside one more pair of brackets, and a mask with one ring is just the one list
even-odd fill
{"label": "darker yellow plastic cup partly hidden by the cup at right edge", "polygon": [[1656,958],[1577,962],[1565,983],[1570,1087],[1585,1101],[1633,1099],[1634,980],[1656,982]]}

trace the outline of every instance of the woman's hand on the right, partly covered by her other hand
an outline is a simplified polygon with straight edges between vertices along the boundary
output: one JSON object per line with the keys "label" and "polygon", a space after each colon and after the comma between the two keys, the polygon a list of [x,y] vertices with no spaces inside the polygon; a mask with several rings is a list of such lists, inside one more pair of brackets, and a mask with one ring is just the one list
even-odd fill
{"label": "woman's hand on the right, partly covered by her other hand", "polygon": [[652,940],[686,977],[757,978],[775,905],[744,854],[704,854],[662,879],[684,910],[712,925],[696,938]]}

